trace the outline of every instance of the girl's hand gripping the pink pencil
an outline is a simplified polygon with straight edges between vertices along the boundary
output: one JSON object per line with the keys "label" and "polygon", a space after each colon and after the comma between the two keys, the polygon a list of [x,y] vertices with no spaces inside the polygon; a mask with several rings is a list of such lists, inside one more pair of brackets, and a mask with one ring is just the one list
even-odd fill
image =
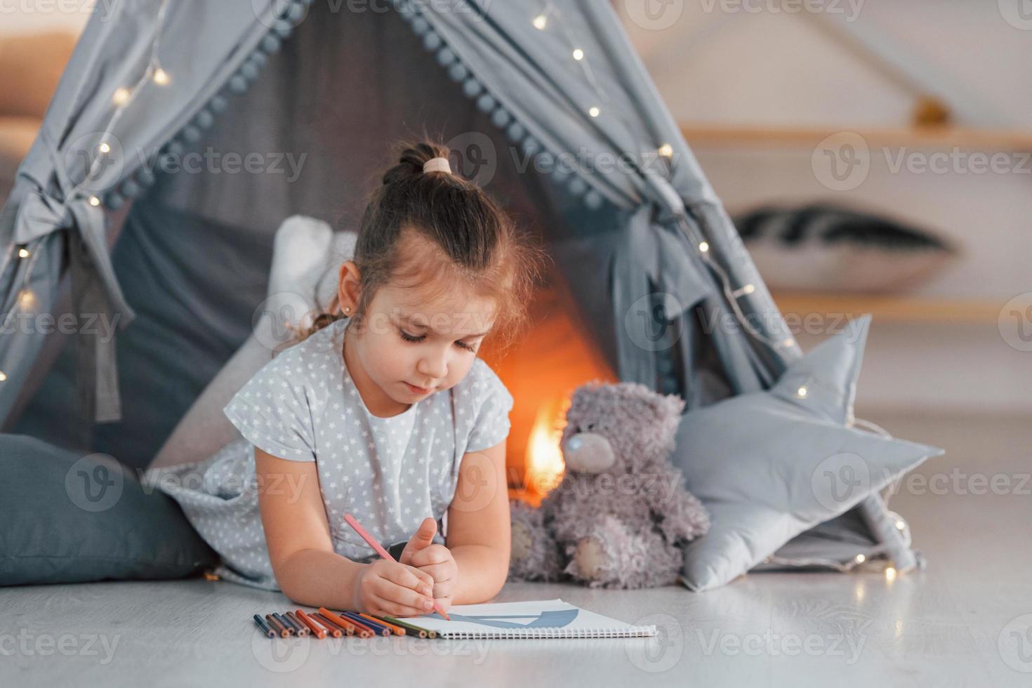
{"label": "girl's hand gripping the pink pencil", "polygon": [[355,581],[355,608],[366,614],[410,617],[432,611],[433,578],[406,564],[378,559]]}

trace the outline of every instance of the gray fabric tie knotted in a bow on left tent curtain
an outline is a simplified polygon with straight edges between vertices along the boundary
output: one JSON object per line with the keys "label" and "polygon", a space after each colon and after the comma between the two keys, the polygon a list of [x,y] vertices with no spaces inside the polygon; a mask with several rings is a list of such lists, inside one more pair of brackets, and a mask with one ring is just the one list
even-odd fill
{"label": "gray fabric tie knotted in a bow on left tent curtain", "polygon": [[[91,331],[78,332],[76,342],[78,399],[87,419],[109,423],[122,419],[115,332],[136,317],[122,293],[107,252],[104,211],[88,197],[61,202],[40,192],[30,192],[19,208],[14,242],[31,243],[52,232],[68,231],[68,260],[73,306],[80,314],[103,319],[100,327],[87,321]],[[75,230],[74,233],[70,230]],[[109,330],[109,337],[102,334]]]}

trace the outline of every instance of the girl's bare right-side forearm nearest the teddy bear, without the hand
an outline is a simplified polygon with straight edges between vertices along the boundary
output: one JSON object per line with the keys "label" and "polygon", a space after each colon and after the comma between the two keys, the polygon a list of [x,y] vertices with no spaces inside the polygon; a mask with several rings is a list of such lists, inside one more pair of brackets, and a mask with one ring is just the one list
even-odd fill
{"label": "girl's bare right-side forearm nearest the teddy bear, without the hand", "polygon": [[448,507],[447,547],[458,566],[454,604],[486,601],[509,575],[512,526],[506,482],[506,443],[462,457]]}

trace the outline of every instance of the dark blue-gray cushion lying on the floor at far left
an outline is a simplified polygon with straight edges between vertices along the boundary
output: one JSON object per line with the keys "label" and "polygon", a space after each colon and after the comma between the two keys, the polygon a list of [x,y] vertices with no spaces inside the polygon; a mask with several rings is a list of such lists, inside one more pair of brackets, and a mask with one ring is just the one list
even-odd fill
{"label": "dark blue-gray cushion lying on the floor at far left", "polygon": [[179,504],[102,454],[0,434],[0,585],[182,578],[218,556]]}

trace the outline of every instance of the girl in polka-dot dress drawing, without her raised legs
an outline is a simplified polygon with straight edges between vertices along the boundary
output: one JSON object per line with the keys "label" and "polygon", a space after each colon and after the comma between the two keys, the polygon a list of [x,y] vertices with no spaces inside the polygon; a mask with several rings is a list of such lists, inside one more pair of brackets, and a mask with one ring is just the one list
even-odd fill
{"label": "girl in polka-dot dress drawing, without her raised legs", "polygon": [[327,313],[226,405],[244,439],[158,482],[223,578],[391,616],[504,585],[513,398],[477,352],[525,320],[540,255],[448,153],[411,145],[383,175]]}

